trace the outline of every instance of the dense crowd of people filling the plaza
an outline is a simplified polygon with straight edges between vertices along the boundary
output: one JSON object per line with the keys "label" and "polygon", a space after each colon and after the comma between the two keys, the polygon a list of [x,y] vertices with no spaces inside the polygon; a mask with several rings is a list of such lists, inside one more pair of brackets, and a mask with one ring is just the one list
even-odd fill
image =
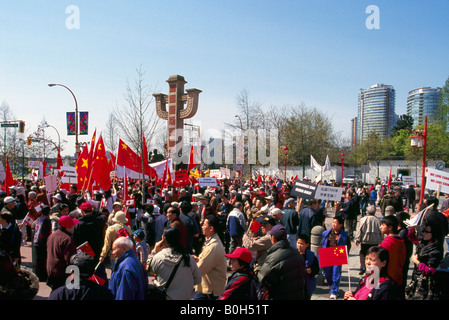
{"label": "dense crowd of people filling the plaza", "polygon": [[[405,221],[417,198],[409,186],[348,185],[334,202],[298,199],[293,181],[224,179],[213,188],[147,181],[142,188],[129,180],[127,190],[114,182],[105,191],[74,184],[47,192],[40,181],[23,181],[9,196],[0,193],[0,288],[10,288],[0,298],[18,299],[18,291],[32,298],[36,283],[46,282],[50,300],[157,299],[154,287],[168,300],[309,300],[322,272],[337,299],[342,266],[320,268],[311,250],[316,227],[321,248],[360,247],[361,281],[345,300],[442,297],[436,270],[447,264],[448,196],[438,208],[438,198],[427,195],[419,208],[429,206],[424,221],[410,228]],[[20,254],[27,243],[31,272]],[[23,290],[11,287],[18,282]]]}

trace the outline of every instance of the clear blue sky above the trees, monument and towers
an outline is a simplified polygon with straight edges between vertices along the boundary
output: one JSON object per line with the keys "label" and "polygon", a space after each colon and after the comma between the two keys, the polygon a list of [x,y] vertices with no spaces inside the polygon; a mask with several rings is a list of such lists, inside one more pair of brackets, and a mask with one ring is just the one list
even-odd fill
{"label": "clear blue sky above the trees, monument and towers", "polygon": [[[70,5],[79,29],[66,28]],[[379,8],[378,30],[365,26],[369,5]],[[393,85],[400,115],[408,91],[444,85],[448,13],[446,0],[2,1],[0,102],[27,133],[45,117],[68,141],[64,154],[73,153],[65,125],[73,98],[47,84],[71,88],[90,112],[90,132],[101,131],[142,66],[158,92],[174,74],[203,91],[194,118],[203,130],[234,121],[246,89],[265,108],[317,107],[349,137],[360,88]]]}

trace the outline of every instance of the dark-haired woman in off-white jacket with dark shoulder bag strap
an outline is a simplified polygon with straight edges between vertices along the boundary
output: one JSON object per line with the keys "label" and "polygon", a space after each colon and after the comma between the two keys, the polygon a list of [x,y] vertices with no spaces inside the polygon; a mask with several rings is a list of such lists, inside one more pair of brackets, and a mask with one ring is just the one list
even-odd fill
{"label": "dark-haired woman in off-white jacket with dark shoulder bag strap", "polygon": [[164,229],[162,240],[156,243],[147,260],[147,270],[155,275],[154,284],[164,286],[175,266],[180,263],[170,286],[167,300],[191,300],[194,286],[201,283],[201,272],[180,242],[180,232],[176,227]]}

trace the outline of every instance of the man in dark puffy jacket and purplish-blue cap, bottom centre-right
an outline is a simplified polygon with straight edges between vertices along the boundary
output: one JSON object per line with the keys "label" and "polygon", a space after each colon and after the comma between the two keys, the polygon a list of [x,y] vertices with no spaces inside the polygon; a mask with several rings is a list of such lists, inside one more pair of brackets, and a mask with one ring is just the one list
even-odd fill
{"label": "man in dark puffy jacket and purplish-blue cap, bottom centre-right", "polygon": [[277,224],[268,234],[273,245],[268,249],[265,262],[257,274],[259,281],[268,288],[270,299],[304,299],[304,258],[290,246],[284,226]]}

